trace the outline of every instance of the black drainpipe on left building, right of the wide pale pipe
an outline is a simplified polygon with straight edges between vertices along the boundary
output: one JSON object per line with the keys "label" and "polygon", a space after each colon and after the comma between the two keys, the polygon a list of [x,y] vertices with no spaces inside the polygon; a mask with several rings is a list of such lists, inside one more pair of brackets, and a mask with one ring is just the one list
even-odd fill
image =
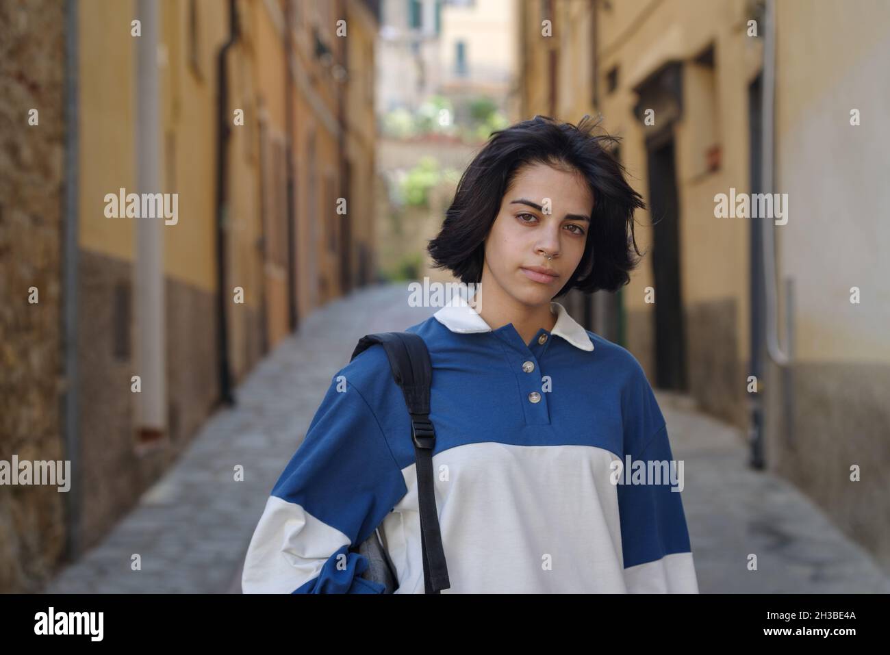
{"label": "black drainpipe on left building, right of the wide pale pipe", "polygon": [[235,0],[229,0],[229,39],[216,55],[216,334],[220,376],[220,400],[234,405],[229,365],[229,329],[226,307],[231,302],[226,287],[226,231],[228,230],[229,206],[226,202],[226,181],[229,173],[229,141],[231,139],[231,115],[228,112],[229,76],[226,55],[238,41],[238,12]]}

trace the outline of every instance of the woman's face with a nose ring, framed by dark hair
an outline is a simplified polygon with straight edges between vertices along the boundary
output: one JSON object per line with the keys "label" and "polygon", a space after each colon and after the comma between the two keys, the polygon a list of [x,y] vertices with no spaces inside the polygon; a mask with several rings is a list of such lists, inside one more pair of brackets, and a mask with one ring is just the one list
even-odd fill
{"label": "woman's face with a nose ring, framed by dark hair", "polygon": [[[577,171],[524,167],[506,190],[485,239],[482,289],[490,295],[495,287],[496,294],[530,306],[549,303],[584,255],[593,207],[593,195]],[[556,275],[529,270],[535,266]]]}

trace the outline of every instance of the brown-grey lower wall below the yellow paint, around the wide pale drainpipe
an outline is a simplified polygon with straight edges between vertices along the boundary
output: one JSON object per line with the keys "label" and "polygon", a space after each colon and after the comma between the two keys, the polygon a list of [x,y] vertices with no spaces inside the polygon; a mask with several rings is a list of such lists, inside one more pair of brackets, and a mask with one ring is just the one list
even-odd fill
{"label": "brown-grey lower wall below the yellow paint, around the wide pale drainpipe", "polygon": [[80,253],[79,440],[84,497],[79,530],[85,548],[105,536],[173,464],[219,396],[214,295],[167,279],[168,429],[156,442],[140,441],[130,384],[135,357],[133,274],[131,263]]}

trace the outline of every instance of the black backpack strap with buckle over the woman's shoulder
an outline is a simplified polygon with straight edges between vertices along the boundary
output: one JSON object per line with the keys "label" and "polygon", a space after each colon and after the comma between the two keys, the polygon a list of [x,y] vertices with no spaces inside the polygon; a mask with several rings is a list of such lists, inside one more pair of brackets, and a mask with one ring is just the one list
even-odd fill
{"label": "black backpack strap with buckle over the woman's shoulder", "polygon": [[449,589],[448,565],[442,549],[439,513],[433,486],[433,449],[436,435],[430,421],[430,386],[433,366],[422,337],[412,332],[380,332],[362,336],[350,361],[374,344],[381,344],[390,362],[392,377],[401,386],[411,416],[411,441],[417,460],[417,503],[420,509],[420,547],[424,555],[427,594]]}

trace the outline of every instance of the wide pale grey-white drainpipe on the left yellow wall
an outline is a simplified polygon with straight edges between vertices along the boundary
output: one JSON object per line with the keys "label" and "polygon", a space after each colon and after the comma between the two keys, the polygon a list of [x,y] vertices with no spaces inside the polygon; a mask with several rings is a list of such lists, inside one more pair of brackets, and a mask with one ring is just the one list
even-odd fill
{"label": "wide pale grey-white drainpipe on the left yellow wall", "polygon": [[[158,193],[160,183],[160,111],[158,95],[158,4],[138,0],[142,36],[136,39],[136,187]],[[136,223],[135,326],[136,371],[142,392],[136,403],[139,441],[155,441],[166,430],[166,352],[164,307],[164,222],[142,217]]]}

